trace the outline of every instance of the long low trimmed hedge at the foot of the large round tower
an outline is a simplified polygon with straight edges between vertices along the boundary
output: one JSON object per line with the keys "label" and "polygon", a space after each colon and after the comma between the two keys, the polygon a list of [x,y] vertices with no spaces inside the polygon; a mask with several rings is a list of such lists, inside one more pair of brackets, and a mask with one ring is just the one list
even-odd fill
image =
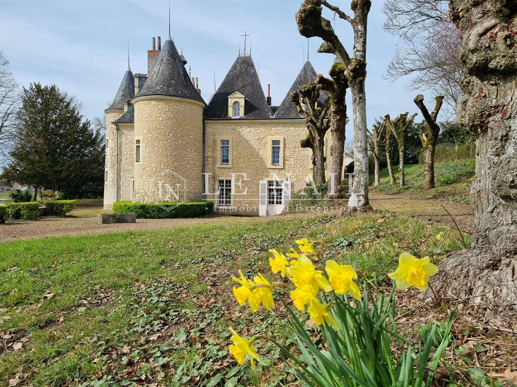
{"label": "long low trimmed hedge at the foot of the large round tower", "polygon": [[212,211],[214,211],[214,202],[160,203],[160,205],[129,201],[113,203],[114,214],[136,214],[136,217],[141,219],[195,218],[211,214]]}

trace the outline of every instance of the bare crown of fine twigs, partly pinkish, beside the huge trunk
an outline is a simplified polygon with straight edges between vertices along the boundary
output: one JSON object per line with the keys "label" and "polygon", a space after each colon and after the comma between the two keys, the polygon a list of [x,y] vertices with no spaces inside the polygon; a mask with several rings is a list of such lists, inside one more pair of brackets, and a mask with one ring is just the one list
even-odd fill
{"label": "bare crown of fine twigs, partly pinkish, beside the huge trunk", "polygon": [[448,18],[446,0],[387,0],[383,28],[401,38],[384,77],[409,76],[408,90],[431,90],[446,96],[446,114],[461,99],[459,29]]}

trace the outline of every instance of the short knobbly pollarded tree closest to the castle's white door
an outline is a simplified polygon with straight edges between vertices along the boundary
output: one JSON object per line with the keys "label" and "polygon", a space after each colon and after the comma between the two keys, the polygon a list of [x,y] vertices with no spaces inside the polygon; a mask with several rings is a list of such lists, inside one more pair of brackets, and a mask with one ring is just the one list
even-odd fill
{"label": "short knobbly pollarded tree closest to the castle's white door", "polygon": [[330,124],[326,119],[328,99],[325,100],[323,108],[317,105],[321,89],[321,84],[309,82],[300,87],[299,91],[291,93],[291,102],[296,105],[299,114],[305,117],[307,123],[309,133],[300,142],[300,146],[312,150],[313,179],[316,184],[325,183],[325,134]]}

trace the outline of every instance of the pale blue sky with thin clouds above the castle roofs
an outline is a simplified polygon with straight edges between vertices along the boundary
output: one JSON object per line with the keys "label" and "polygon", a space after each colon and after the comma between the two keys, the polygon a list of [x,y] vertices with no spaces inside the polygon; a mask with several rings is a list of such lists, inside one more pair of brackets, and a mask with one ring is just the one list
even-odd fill
{"label": "pale blue sky with thin clouds above the castle roofs", "polygon": [[[333,1],[349,11],[349,1]],[[394,54],[398,38],[381,25],[383,0],[373,0],[368,29],[367,113],[368,125],[388,112],[394,116],[416,111],[404,81],[390,85],[382,74]],[[301,0],[171,1],[176,46],[199,77],[202,96],[208,102],[216,86],[234,62],[246,30],[248,48],[258,68],[264,91],[271,84],[273,105],[291,87],[306,57],[307,39],[298,33],[294,14]],[[332,19],[332,13],[326,17]],[[56,84],[83,103],[86,118],[101,116],[113,99],[127,67],[127,40],[133,73],[147,72],[151,37],[167,36],[168,2],[154,1],[9,1],[0,0],[0,49],[11,70],[24,86],[30,82]],[[352,29],[336,19],[336,31],[351,53]],[[318,54],[321,40],[310,39],[310,60],[316,72],[327,74],[329,54]],[[352,55],[352,54],[351,54]],[[429,99],[429,96],[424,93]],[[349,93],[349,116],[352,115]],[[417,117],[417,120],[421,118]],[[347,126],[352,139],[352,122]]]}

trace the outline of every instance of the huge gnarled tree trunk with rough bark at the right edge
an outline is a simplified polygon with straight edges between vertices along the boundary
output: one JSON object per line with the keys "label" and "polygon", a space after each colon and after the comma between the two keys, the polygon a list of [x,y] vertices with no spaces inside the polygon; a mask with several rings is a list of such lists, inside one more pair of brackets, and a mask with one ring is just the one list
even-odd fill
{"label": "huge gnarled tree trunk with rough bark at the right edge", "polygon": [[449,257],[437,281],[469,312],[517,327],[517,6],[451,0],[450,12],[463,42],[458,121],[477,137],[476,234],[473,250]]}

